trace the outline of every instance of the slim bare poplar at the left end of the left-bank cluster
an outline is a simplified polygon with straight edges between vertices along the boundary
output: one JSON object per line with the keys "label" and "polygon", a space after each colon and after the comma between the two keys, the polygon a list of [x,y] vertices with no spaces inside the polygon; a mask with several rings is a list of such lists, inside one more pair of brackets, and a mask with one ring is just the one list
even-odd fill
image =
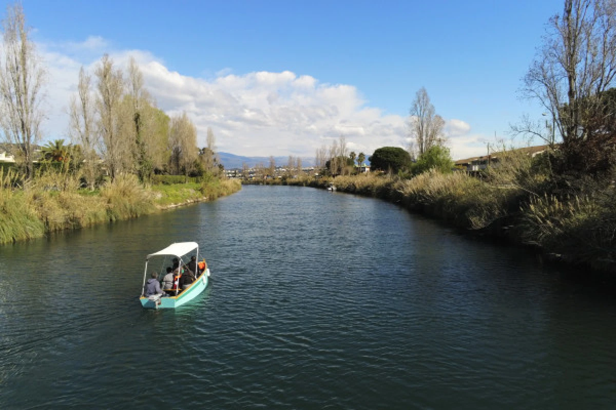
{"label": "slim bare poplar at the left end of the left-bank cluster", "polygon": [[96,148],[99,138],[95,132],[94,96],[92,95],[92,77],[86,73],[83,66],[79,69],[79,84],[77,94],[71,97],[69,108],[69,135],[73,142],[81,145],[84,164],[84,177],[91,190],[94,189],[98,175],[98,159]]}

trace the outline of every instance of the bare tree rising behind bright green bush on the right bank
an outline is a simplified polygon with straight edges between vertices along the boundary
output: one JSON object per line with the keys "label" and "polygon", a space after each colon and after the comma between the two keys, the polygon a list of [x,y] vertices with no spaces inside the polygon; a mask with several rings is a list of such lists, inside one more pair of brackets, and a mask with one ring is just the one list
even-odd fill
{"label": "bare tree rising behind bright green bush on the right bank", "polygon": [[416,141],[416,149],[419,155],[428,151],[431,146],[442,145],[445,142],[443,135],[445,120],[435,113],[434,106],[430,102],[430,97],[424,87],[421,87],[415,94],[415,101],[408,119],[408,127],[411,138]]}

